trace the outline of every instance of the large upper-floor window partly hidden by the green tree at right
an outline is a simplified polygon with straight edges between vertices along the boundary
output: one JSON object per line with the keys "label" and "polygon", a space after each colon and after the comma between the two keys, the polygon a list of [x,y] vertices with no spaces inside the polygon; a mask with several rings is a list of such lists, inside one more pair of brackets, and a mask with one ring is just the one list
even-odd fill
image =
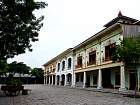
{"label": "large upper-floor window partly hidden by the green tree at right", "polygon": [[115,43],[105,46],[105,59],[104,61],[111,60],[111,56],[115,51]]}

